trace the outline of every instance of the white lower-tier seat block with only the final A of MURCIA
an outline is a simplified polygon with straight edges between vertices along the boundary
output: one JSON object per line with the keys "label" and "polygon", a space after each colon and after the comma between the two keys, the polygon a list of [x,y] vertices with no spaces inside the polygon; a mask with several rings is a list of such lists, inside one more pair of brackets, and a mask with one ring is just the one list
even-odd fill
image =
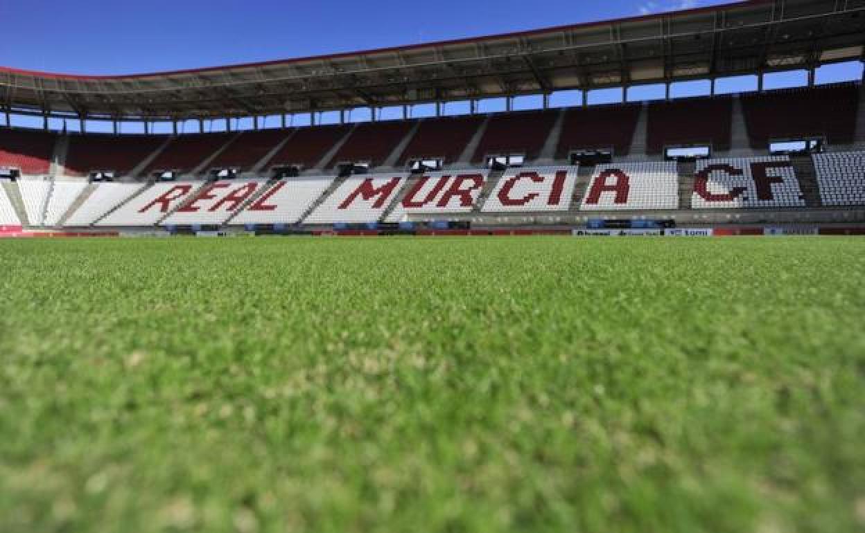
{"label": "white lower-tier seat block with only the final A of MURCIA", "polygon": [[677,209],[679,174],[676,162],[598,165],[580,211]]}

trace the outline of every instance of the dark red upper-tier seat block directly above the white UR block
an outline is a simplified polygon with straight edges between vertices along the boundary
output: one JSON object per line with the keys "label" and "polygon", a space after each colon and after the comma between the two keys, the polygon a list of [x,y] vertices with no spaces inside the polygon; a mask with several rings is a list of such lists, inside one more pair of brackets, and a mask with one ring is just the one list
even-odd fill
{"label": "dark red upper-tier seat block directly above the white UR block", "polygon": [[445,164],[457,162],[484,117],[425,118],[400,157],[399,166],[410,159],[444,158]]}

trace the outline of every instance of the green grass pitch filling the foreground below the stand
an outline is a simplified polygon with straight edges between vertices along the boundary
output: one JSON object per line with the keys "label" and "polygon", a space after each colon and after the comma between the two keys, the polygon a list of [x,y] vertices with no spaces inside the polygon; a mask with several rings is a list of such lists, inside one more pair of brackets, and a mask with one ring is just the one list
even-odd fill
{"label": "green grass pitch filling the foreground below the stand", "polygon": [[0,242],[0,531],[865,529],[865,239]]}

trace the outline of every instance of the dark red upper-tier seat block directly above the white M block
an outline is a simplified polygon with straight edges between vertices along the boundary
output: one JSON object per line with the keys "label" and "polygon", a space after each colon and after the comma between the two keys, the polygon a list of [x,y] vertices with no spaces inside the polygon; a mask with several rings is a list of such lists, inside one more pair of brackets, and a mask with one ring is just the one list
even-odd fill
{"label": "dark red upper-tier seat block directly above the white M block", "polygon": [[357,124],[345,144],[330,160],[330,167],[341,162],[369,162],[380,167],[388,155],[414,127],[411,121],[388,121]]}

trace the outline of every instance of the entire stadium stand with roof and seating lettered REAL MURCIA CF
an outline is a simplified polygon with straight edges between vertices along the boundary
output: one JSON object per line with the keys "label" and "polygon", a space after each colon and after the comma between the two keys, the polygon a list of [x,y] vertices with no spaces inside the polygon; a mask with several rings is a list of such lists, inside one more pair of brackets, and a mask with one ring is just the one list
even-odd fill
{"label": "entire stadium stand with roof and seating lettered REAL MURCIA CF", "polygon": [[[0,68],[0,231],[861,231],[865,88],[815,73],[863,58],[865,0],[759,0],[183,72]],[[764,90],[764,75],[791,70],[807,85]],[[715,93],[740,75],[758,90]],[[708,96],[670,98],[689,80]],[[666,98],[627,98],[657,84]],[[605,88],[623,102],[589,105]],[[550,107],[572,90],[573,105]],[[513,111],[522,96],[541,108]],[[477,112],[489,98],[506,111]],[[445,116],[452,102],[471,112]],[[417,105],[436,112],[412,118]],[[372,119],[347,122],[357,108]],[[325,112],[336,124],[316,124]],[[310,125],[292,127],[301,113]],[[10,127],[16,116],[44,129]],[[238,118],[253,127],[232,130]],[[79,131],[48,129],[71,119]],[[205,133],[214,120],[225,130]],[[87,132],[94,122],[113,133]],[[144,134],[119,134],[128,122]]]}

